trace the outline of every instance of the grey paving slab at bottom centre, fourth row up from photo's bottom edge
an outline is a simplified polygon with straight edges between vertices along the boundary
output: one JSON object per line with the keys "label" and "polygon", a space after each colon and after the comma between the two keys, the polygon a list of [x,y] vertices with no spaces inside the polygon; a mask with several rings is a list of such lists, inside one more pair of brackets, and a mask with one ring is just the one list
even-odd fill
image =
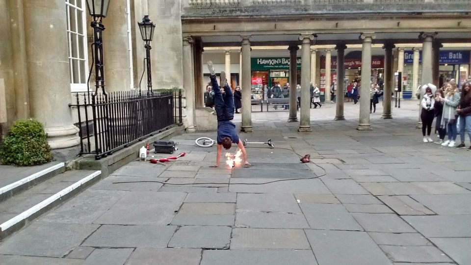
{"label": "grey paving slab at bottom centre, fourth row up from photo's bottom edge", "polygon": [[302,213],[293,194],[237,194],[237,210]]}

